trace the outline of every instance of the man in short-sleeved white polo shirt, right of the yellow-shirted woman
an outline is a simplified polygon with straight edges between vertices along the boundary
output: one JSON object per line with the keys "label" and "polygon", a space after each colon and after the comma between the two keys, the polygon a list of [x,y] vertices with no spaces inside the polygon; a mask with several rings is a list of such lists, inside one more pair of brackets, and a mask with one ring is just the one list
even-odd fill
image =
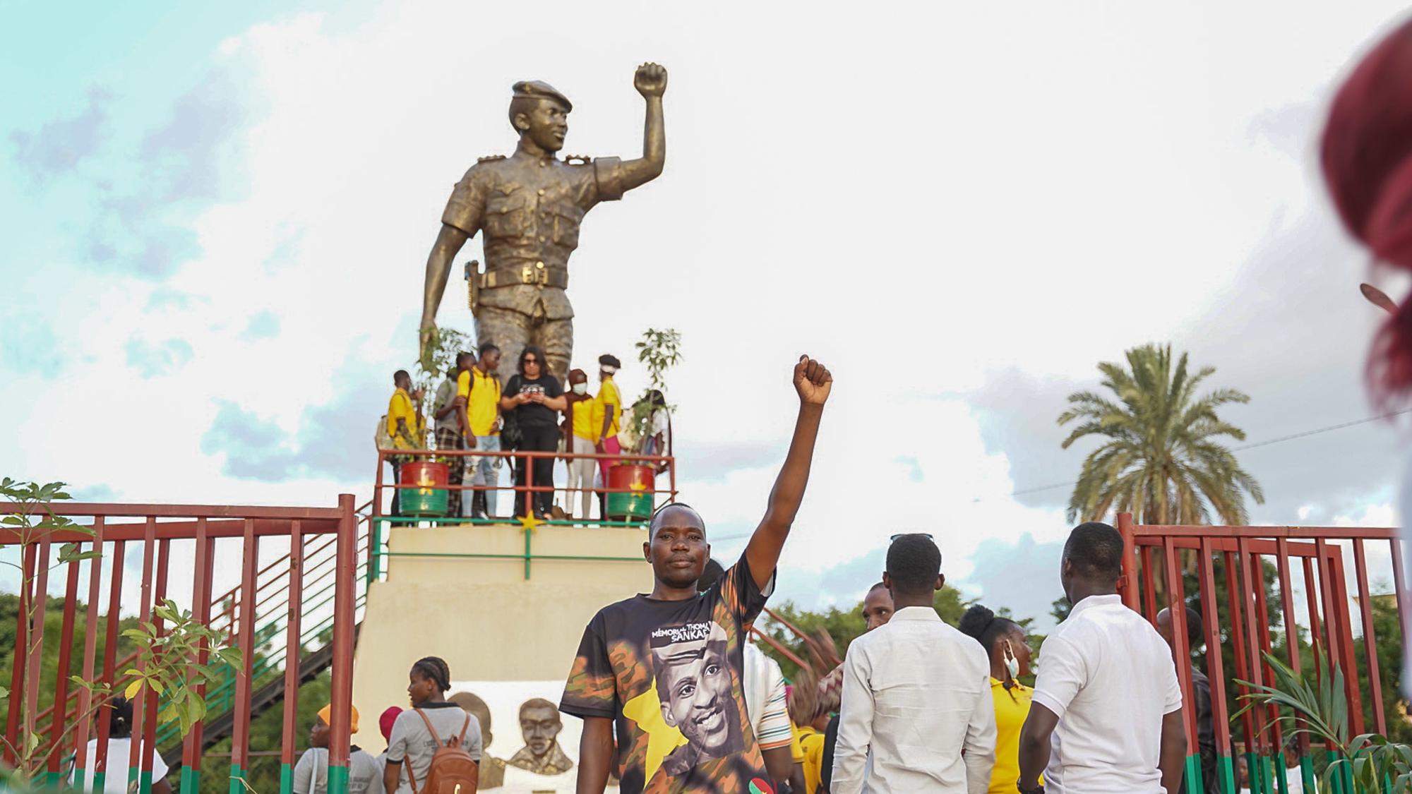
{"label": "man in short-sleeved white polo shirt, right of the yellow-shirted woman", "polygon": [[1039,651],[1019,732],[1021,794],[1180,790],[1186,733],[1172,648],[1123,605],[1121,574],[1123,535],[1097,521],[1075,527],[1059,572],[1073,610]]}

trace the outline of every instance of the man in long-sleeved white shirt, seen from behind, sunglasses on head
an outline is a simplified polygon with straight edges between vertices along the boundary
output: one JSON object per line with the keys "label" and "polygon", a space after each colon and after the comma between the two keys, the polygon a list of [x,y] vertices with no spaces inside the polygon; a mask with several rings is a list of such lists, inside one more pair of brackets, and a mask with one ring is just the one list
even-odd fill
{"label": "man in long-sleeved white shirt, seen from behind, sunglasses on head", "polygon": [[833,794],[984,794],[995,764],[990,660],[932,606],[946,583],[931,535],[892,538],[892,619],[849,646]]}

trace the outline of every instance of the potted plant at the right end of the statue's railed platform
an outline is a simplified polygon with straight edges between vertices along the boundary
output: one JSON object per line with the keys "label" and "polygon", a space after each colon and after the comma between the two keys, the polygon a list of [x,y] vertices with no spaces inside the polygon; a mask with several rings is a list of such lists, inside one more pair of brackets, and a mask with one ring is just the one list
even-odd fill
{"label": "potted plant at the right end of the statue's railed platform", "polygon": [[[658,465],[644,461],[654,438],[652,417],[658,410],[671,411],[666,404],[666,370],[682,360],[682,335],[675,329],[650,328],[637,342],[637,360],[647,367],[648,386],[627,413],[618,431],[623,461],[609,468],[607,517],[611,520],[647,520],[652,516]],[[652,455],[665,455],[654,449]]]}

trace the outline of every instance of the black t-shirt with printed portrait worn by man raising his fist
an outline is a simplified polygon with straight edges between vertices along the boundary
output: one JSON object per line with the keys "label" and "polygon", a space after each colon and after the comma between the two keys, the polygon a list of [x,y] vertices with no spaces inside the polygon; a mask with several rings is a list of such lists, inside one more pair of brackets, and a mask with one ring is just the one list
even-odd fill
{"label": "black t-shirt with printed portrait worn by man raising his fist", "polygon": [[589,622],[559,711],[614,721],[623,794],[774,794],[741,685],[743,626],[772,588],[741,557],[693,599],[638,595]]}

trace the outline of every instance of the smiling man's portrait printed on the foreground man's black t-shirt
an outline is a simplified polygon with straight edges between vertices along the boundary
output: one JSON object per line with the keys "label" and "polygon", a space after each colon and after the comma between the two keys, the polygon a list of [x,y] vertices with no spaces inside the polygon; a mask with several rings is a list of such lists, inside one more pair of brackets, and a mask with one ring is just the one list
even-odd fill
{"label": "smiling man's portrait printed on the foreground man's black t-shirt", "polygon": [[712,622],[655,629],[651,653],[662,721],[686,739],[662,762],[666,774],[675,777],[700,762],[744,750],[726,630]]}

